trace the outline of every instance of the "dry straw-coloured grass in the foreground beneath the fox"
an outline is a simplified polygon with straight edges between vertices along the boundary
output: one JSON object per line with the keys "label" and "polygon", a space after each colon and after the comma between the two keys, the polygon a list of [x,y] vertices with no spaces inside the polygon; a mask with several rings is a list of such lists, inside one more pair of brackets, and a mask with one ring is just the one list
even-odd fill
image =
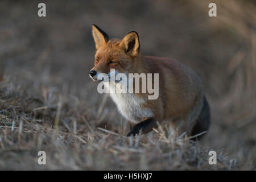
{"label": "dry straw-coloured grass in the foreground beneath the fox", "polygon": [[[230,169],[224,151],[218,165],[208,164],[209,149],[160,128],[148,135],[125,137],[129,126],[111,125],[117,133],[95,125],[81,102],[76,109],[42,89],[32,96],[1,82],[1,169]],[[46,93],[44,93],[46,92]],[[43,97],[45,96],[45,97]],[[55,97],[56,96],[56,97]],[[58,99],[59,98],[59,99]],[[48,105],[51,101],[51,105]],[[43,105],[43,106],[42,106]],[[60,105],[63,105],[61,107]],[[61,114],[59,114],[61,113]],[[102,114],[99,114],[103,117]],[[57,125],[60,121],[59,125]],[[46,151],[47,165],[37,164]],[[26,167],[25,167],[26,166]],[[24,168],[25,167],[25,168]]]}

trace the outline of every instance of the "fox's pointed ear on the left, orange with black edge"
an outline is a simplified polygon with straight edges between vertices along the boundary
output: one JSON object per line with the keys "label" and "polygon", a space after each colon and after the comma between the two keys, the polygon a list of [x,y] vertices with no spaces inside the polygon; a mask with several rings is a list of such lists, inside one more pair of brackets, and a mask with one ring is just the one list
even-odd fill
{"label": "fox's pointed ear on the left, orange with black edge", "polygon": [[109,41],[109,36],[96,24],[92,24],[92,34],[96,49],[104,46]]}

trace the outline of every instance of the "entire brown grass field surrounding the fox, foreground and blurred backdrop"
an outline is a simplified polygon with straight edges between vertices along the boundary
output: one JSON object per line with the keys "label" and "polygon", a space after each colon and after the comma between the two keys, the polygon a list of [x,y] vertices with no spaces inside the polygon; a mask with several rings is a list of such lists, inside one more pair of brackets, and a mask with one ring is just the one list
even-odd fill
{"label": "entire brown grass field surrounding the fox, foreground and blurred backdrop", "polygon": [[[0,169],[256,169],[255,1],[44,2],[46,18],[39,1],[0,1]],[[125,137],[131,124],[88,76],[92,23],[110,38],[137,31],[143,55],[199,73],[212,114],[203,140],[167,124]]]}

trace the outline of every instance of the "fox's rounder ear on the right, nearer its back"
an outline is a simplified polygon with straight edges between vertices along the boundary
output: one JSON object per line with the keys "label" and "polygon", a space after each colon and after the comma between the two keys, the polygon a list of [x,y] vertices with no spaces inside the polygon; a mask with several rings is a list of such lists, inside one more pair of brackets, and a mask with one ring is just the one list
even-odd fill
{"label": "fox's rounder ear on the right, nearer its back", "polygon": [[137,32],[129,32],[120,43],[127,55],[135,57],[139,53],[139,35]]}

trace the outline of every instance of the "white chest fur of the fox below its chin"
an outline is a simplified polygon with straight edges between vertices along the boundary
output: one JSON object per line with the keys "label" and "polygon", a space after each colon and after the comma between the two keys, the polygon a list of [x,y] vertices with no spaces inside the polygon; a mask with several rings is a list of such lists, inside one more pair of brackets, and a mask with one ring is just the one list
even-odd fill
{"label": "white chest fur of the fox below its chin", "polygon": [[[106,82],[106,88],[116,90],[120,89],[118,83]],[[120,113],[131,122],[138,123],[144,118],[153,117],[151,109],[142,107],[147,101],[144,97],[138,97],[133,93],[110,93],[113,101],[118,107]]]}

